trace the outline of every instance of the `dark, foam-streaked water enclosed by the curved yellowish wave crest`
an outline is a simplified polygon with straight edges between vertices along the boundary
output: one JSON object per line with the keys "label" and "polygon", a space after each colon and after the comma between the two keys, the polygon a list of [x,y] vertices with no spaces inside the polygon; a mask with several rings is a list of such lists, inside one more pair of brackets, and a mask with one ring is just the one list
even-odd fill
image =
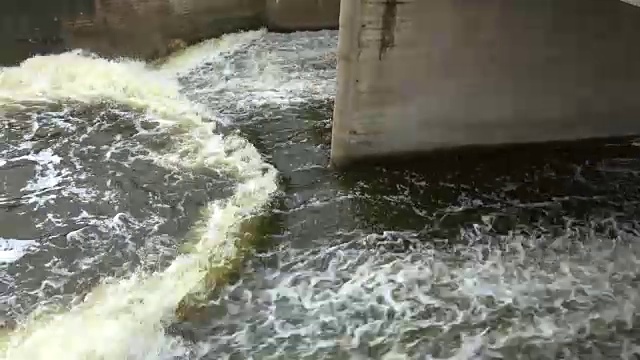
{"label": "dark, foam-streaked water enclosed by the curved yellowish wave crest", "polygon": [[13,286],[1,292],[12,299],[13,317],[63,305],[105,276],[165,268],[200,208],[233,186],[216,173],[156,165],[153,152],[170,135],[139,112],[51,107],[31,110],[3,133],[1,234],[36,239],[3,245],[3,257],[14,257]]}

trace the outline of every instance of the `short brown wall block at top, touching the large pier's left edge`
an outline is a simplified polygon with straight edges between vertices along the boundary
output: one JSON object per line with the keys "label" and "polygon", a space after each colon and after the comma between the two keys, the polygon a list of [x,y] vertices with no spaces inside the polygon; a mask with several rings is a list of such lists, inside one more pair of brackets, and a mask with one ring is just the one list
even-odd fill
{"label": "short brown wall block at top, touching the large pier's left edge", "polygon": [[269,30],[338,28],[340,0],[266,0],[266,3]]}

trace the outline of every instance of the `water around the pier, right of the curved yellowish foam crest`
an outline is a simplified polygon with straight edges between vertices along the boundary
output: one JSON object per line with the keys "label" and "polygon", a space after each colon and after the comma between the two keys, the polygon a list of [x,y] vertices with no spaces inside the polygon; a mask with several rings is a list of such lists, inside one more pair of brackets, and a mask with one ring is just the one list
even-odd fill
{"label": "water around the pier, right of the curved yellowish foam crest", "polygon": [[270,155],[286,193],[280,245],[171,333],[206,359],[637,352],[637,161],[618,161],[628,147],[333,173],[335,41],[266,34],[182,77],[187,96]]}

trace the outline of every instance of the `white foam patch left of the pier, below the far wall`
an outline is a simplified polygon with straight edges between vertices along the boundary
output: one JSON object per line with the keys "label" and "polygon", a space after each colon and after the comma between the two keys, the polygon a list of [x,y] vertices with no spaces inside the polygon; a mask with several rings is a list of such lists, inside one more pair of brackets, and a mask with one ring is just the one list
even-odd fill
{"label": "white foam patch left of the pier, below the far wall", "polygon": [[335,94],[335,68],[300,64],[325,63],[335,39],[331,32],[265,34],[226,53],[231,56],[224,62],[200,61],[189,74],[193,85],[188,92],[199,102],[237,109],[330,98]]}

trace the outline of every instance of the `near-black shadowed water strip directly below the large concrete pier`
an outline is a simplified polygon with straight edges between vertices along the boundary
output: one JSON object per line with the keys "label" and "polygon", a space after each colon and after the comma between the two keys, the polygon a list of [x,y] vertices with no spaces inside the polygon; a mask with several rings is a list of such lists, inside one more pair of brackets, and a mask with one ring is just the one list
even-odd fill
{"label": "near-black shadowed water strip directly below the large concrete pier", "polygon": [[560,231],[567,222],[636,226],[640,149],[632,139],[436,152],[339,174],[368,230],[456,237],[490,222],[498,234]]}

